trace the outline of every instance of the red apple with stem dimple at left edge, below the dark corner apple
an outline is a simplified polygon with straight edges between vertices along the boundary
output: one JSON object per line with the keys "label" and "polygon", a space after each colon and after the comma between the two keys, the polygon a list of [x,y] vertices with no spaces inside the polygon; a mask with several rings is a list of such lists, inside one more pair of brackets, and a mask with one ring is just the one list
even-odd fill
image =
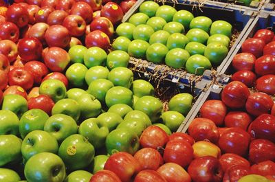
{"label": "red apple with stem dimple at left edge, below the dark corner apple", "polygon": [[0,24],[0,39],[8,39],[17,42],[19,38],[19,28],[12,22],[5,21]]}

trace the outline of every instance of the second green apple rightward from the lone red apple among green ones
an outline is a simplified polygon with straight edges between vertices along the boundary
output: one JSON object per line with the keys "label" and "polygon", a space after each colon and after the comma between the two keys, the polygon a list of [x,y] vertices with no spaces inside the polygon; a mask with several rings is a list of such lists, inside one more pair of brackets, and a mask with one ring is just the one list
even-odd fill
{"label": "second green apple rightward from the lone red apple among green ones", "polygon": [[101,113],[101,103],[94,95],[83,94],[78,99],[80,116],[83,120],[91,117],[97,117]]}

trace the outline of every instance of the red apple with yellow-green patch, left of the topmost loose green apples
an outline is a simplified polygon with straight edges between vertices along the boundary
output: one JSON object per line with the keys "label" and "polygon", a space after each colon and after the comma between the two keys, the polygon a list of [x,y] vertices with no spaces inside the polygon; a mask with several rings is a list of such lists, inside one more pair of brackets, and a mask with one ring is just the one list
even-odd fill
{"label": "red apple with yellow-green patch, left of the topmost loose green apples", "polygon": [[61,72],[64,71],[69,64],[70,58],[69,54],[61,47],[50,47],[50,49],[45,52],[43,60],[48,69]]}

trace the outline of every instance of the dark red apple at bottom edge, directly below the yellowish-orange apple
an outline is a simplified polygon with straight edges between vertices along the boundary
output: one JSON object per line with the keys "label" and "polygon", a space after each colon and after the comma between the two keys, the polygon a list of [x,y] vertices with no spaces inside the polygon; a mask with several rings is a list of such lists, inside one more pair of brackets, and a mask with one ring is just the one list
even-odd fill
{"label": "dark red apple at bottom edge, directly below the yellowish-orange apple", "polygon": [[205,156],[190,163],[188,174],[194,182],[219,182],[223,177],[223,170],[218,159]]}

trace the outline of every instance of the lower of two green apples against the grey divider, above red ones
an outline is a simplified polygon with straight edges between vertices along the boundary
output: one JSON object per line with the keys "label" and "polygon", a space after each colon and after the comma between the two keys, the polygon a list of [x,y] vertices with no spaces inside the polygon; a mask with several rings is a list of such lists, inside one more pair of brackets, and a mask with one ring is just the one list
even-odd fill
{"label": "lower of two green apples against the grey divider, above red ones", "polygon": [[177,111],[166,111],[162,113],[160,119],[172,132],[176,132],[181,123],[184,122],[185,117]]}

